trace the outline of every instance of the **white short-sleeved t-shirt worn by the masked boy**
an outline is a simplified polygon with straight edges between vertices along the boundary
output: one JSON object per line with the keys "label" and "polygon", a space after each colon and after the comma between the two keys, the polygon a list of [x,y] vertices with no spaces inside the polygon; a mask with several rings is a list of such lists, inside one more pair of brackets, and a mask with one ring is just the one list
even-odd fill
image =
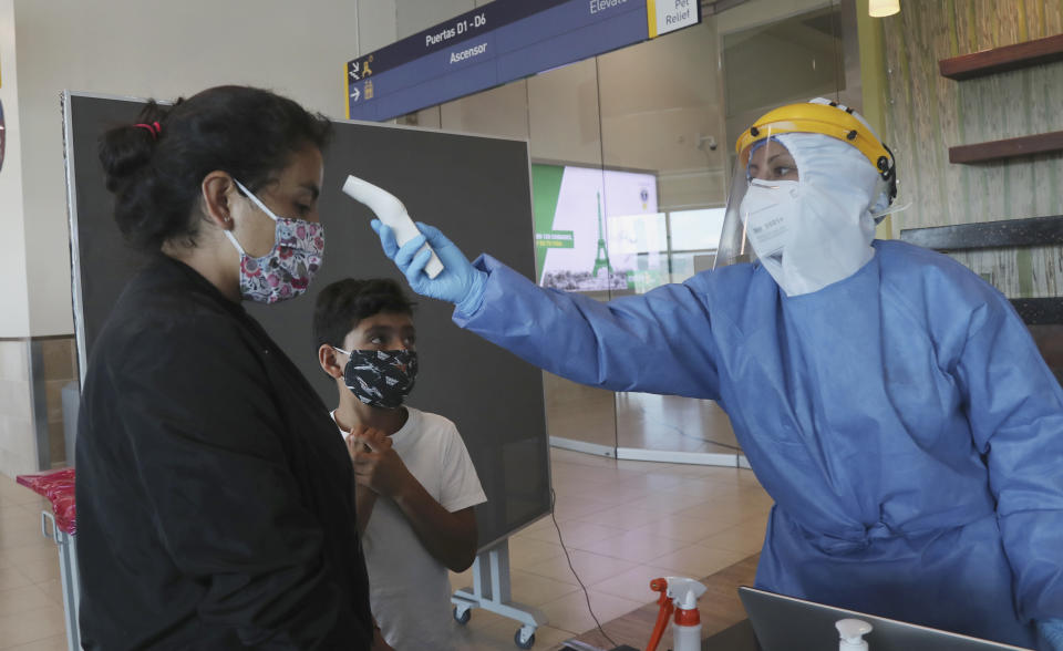
{"label": "white short-sleeved t-shirt worn by the masked boy", "polygon": [[[413,407],[406,412],[391,446],[424,489],[451,513],[487,502],[454,423]],[[395,651],[454,649],[446,567],[429,554],[394,502],[378,496],[362,546],[373,617],[388,643]]]}

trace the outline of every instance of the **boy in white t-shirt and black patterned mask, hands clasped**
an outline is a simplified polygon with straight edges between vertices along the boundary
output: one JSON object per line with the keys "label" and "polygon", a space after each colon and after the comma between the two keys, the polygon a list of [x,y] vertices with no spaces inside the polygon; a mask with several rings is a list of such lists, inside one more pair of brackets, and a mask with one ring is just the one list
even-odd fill
{"label": "boy in white t-shirt and black patterned mask, hands clasped", "polygon": [[340,394],[373,614],[396,651],[453,649],[446,570],[476,557],[473,507],[487,498],[454,423],[403,406],[413,303],[394,280],[340,280],[318,294],[313,332]]}

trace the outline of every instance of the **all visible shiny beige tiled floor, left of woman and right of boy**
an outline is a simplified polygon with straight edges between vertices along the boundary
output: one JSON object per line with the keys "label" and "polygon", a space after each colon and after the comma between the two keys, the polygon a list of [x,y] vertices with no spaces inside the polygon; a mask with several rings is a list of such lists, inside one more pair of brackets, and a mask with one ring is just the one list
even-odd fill
{"label": "all visible shiny beige tiled floor, left of woman and right of boy", "polygon": [[[701,578],[760,550],[771,499],[749,471],[618,462],[551,451],[556,516],[571,564],[601,622],[653,601],[650,579]],[[65,649],[59,565],[41,537],[44,503],[0,476],[0,650]],[[594,628],[547,517],[510,539],[513,599],[549,618],[536,649]],[[472,585],[469,572],[452,585]],[[517,622],[474,610],[457,629],[467,651],[516,649]],[[649,631],[647,631],[647,637]]]}

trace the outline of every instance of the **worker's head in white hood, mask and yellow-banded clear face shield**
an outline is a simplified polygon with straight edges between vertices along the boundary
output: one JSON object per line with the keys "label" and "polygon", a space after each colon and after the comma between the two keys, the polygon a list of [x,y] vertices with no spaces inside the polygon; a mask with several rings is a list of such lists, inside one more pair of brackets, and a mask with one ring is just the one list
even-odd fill
{"label": "worker's head in white hood, mask and yellow-banded clear face shield", "polygon": [[735,152],[714,268],[760,260],[776,280],[804,276],[788,288],[781,282],[794,293],[829,279],[833,272],[817,269],[821,254],[839,258],[843,271],[856,247],[868,255],[896,175],[892,155],[863,117],[827,100],[781,106],[744,131]]}

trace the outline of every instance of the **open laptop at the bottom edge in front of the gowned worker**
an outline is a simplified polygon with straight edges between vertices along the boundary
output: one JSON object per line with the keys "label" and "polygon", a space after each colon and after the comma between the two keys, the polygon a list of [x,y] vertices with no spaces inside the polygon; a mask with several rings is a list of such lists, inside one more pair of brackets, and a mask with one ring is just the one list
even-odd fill
{"label": "open laptop at the bottom edge in front of the gowned worker", "polygon": [[838,630],[834,623],[846,618],[860,619],[874,627],[870,633],[864,636],[870,651],[1022,651],[1021,647],[834,608],[746,586],[739,588],[739,597],[763,651],[832,651],[838,648]]}

